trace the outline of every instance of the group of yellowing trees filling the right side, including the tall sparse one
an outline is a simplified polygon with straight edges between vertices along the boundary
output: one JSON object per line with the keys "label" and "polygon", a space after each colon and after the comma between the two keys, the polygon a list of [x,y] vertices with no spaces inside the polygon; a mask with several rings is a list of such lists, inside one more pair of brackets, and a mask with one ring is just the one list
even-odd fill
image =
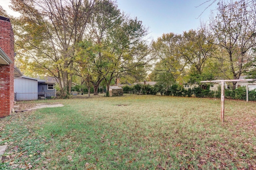
{"label": "group of yellowing trees filling the right side, including the tall sparse one", "polygon": [[[152,42],[158,58],[149,79],[172,83],[256,78],[256,10],[254,1],[218,1],[210,22],[183,34],[167,33]],[[236,82],[233,82],[233,89]]]}

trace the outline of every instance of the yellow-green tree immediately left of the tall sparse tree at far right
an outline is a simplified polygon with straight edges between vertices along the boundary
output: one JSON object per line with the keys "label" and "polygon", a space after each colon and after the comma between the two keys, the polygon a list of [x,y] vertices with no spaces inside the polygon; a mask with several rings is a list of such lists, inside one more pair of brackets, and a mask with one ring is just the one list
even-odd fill
{"label": "yellow-green tree immediately left of the tall sparse tree at far right", "polygon": [[189,30],[183,32],[178,44],[178,54],[189,66],[189,82],[198,83],[203,89],[202,80],[212,80],[214,76],[206,69],[208,58],[214,53],[214,45],[209,42],[212,39],[204,29]]}

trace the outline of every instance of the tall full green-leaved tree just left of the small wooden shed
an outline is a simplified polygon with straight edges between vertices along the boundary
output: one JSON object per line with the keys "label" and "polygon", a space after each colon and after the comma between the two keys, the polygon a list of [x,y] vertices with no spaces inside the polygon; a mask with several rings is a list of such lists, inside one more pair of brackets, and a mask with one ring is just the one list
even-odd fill
{"label": "tall full green-leaved tree just left of the small wooden shed", "polygon": [[95,47],[90,80],[94,85],[94,95],[97,95],[103,80],[108,91],[110,83],[118,76],[142,75],[138,73],[142,73],[150,60],[148,45],[143,39],[147,29],[142,22],[121,14],[113,3],[101,9],[101,12],[92,15],[86,37]]}

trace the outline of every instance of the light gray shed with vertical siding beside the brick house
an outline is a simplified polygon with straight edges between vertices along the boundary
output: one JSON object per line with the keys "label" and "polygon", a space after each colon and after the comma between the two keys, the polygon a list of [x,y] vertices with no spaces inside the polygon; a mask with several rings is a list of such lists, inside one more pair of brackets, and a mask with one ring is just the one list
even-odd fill
{"label": "light gray shed with vertical siding beside the brick house", "polygon": [[37,100],[38,99],[38,83],[46,82],[46,80],[22,76],[14,79],[14,93],[16,101],[20,100]]}

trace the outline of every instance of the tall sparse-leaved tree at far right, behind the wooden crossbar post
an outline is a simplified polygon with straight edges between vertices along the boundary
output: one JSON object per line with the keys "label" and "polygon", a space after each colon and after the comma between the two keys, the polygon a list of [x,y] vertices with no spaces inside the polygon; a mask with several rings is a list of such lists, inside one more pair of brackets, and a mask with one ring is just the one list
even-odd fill
{"label": "tall sparse-leaved tree at far right, behind the wooden crossbar post", "polygon": [[[256,46],[256,15],[254,6],[244,0],[218,3],[217,16],[211,17],[210,28],[216,37],[213,44],[226,50],[232,77],[239,79],[253,60],[252,48]],[[236,82],[233,82],[233,89]]]}

